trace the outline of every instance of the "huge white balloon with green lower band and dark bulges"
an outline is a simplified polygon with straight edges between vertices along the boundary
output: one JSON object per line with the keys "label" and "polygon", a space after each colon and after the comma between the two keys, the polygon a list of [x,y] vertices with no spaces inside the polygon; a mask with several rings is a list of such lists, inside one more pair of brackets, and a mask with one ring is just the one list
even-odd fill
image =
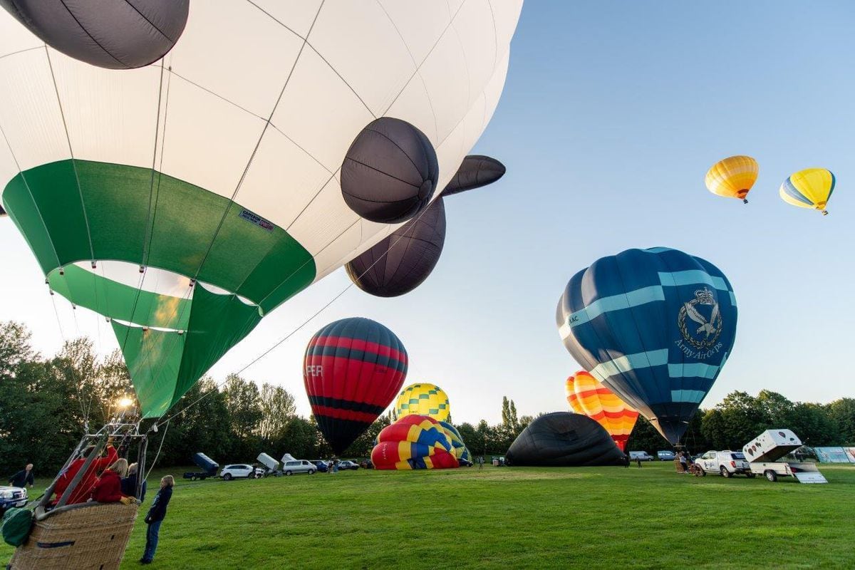
{"label": "huge white balloon with green lower band and dark bulges", "polygon": [[45,295],[112,323],[160,417],[439,198],[498,105],[521,9],[0,0],[0,216]]}

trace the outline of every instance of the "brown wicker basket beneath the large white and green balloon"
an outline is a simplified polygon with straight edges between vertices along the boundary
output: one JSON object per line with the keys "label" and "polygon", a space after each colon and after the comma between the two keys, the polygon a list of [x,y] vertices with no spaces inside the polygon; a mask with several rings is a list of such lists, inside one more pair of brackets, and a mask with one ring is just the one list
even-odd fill
{"label": "brown wicker basket beneath the large white and green balloon", "polygon": [[39,514],[12,570],[112,570],[125,554],[137,505],[85,503]]}

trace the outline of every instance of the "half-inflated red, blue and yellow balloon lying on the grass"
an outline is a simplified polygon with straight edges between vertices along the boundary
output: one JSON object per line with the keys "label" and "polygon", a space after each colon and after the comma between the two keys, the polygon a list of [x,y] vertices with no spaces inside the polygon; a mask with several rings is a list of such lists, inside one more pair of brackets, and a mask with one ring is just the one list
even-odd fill
{"label": "half-inflated red, blue and yellow balloon lying on the grass", "polygon": [[371,450],[375,469],[448,469],[459,467],[443,426],[426,415],[411,414],[384,427]]}

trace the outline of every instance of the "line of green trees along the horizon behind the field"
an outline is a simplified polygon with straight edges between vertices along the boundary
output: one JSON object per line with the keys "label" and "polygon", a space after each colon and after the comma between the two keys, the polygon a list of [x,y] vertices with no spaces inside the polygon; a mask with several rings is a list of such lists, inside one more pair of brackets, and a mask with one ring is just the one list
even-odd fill
{"label": "line of green trees along the horizon behind the field", "polygon": [[[32,350],[25,326],[0,321],[0,473],[15,473],[28,462],[42,476],[56,473],[84,426],[102,426],[118,399],[127,395],[133,395],[133,385],[118,350],[99,359],[89,338],[76,338],[44,358]],[[282,386],[257,385],[236,374],[221,385],[205,377],[171,413],[176,411],[180,413],[149,444],[149,461],[159,449],[160,467],[189,465],[192,454],[200,451],[221,465],[253,462],[261,452],[277,459],[285,452],[305,459],[333,455],[315,418],[297,414],[294,395]],[[486,420],[454,425],[473,455],[504,455],[535,418],[518,416],[508,397],[502,399],[501,418],[495,425]],[[342,456],[368,457],[374,438],[396,419],[392,411],[381,415]],[[855,399],[793,403],[773,391],[756,397],[734,391],[694,415],[684,443],[698,452],[740,450],[775,427],[792,429],[810,446],[855,445]],[[640,417],[627,450],[663,449],[670,445]]]}

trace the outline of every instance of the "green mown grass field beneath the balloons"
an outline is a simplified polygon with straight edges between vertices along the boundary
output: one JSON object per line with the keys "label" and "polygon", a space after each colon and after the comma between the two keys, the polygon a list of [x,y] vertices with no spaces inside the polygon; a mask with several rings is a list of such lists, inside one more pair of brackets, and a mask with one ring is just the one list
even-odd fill
{"label": "green mown grass field beneath the balloons", "polygon": [[[855,567],[855,467],[821,471],[828,485],[670,462],[179,479],[151,567]],[[140,516],[122,568],[144,539]]]}

